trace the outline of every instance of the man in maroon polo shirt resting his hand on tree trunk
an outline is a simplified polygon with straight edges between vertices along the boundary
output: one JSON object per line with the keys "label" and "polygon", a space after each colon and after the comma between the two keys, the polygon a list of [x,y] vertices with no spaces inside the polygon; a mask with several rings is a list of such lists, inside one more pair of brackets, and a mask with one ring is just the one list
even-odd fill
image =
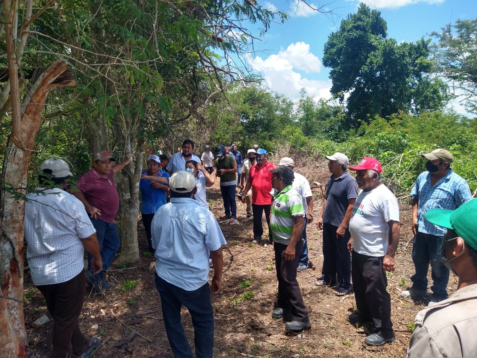
{"label": "man in maroon polo shirt resting his hand on tree trunk", "polygon": [[[114,218],[119,209],[119,194],[113,174],[122,170],[129,163],[131,157],[126,156],[122,163],[113,166],[112,162],[115,162],[116,159],[111,157],[108,152],[96,153],[93,168],[78,180],[76,187],[78,190],[72,191],[72,194],[81,200],[90,214],[90,220],[96,229],[101,249],[102,272],[94,275],[90,270],[86,273],[86,281],[97,292],[101,291],[101,287],[114,286],[112,282],[106,281],[104,278],[104,273],[113,262],[120,246],[118,230],[114,224]],[[88,253],[88,260],[91,261],[91,258]]]}

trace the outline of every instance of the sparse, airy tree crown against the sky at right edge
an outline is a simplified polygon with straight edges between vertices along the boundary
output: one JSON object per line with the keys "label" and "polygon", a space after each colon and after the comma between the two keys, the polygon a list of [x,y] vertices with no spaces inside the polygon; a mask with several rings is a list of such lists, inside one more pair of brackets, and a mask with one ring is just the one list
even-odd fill
{"label": "sparse, airy tree crown against the sky at right edge", "polygon": [[437,71],[464,92],[467,109],[477,113],[477,19],[457,20],[442,32],[433,32],[432,46]]}

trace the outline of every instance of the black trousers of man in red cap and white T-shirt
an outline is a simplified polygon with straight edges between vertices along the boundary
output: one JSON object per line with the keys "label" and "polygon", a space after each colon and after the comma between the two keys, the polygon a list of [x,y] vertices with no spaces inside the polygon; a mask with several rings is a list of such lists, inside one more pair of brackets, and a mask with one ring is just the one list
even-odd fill
{"label": "black trousers of man in red cap and white T-shirt", "polygon": [[375,333],[391,338],[394,337],[391,296],[386,291],[387,278],[383,271],[383,259],[384,256],[367,256],[353,250],[351,276],[356,308],[360,316],[373,322]]}

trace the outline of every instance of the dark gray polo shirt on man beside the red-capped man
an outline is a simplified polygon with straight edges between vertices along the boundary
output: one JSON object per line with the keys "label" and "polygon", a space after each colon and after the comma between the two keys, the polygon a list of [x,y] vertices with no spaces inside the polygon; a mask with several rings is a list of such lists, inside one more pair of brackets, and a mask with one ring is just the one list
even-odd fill
{"label": "dark gray polo shirt on man beside the red-capped man", "polygon": [[356,180],[347,171],[339,178],[331,176],[328,179],[325,196],[323,222],[340,226],[348,208],[348,200],[358,197]]}

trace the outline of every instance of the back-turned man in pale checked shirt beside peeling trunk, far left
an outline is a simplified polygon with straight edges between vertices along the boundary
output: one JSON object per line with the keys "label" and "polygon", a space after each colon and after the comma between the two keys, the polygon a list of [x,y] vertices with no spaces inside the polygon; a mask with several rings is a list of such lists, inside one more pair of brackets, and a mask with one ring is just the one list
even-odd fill
{"label": "back-turned man in pale checked shirt beside peeling trunk, far left", "polygon": [[78,325],[86,291],[84,249],[92,255],[93,274],[101,273],[103,262],[96,230],[83,204],[65,191],[72,176],[64,160],[43,161],[40,186],[27,195],[25,205],[31,279],[54,321],[52,358],[88,357],[101,341],[100,336],[84,337]]}

